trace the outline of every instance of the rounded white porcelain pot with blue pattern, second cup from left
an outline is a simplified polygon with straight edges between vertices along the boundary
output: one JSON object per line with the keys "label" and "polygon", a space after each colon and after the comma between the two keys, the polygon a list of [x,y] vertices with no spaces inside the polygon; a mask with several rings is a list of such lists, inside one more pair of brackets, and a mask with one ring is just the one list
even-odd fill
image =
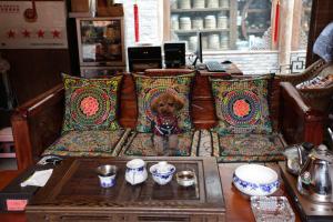
{"label": "rounded white porcelain pot with blue pattern, second cup from left", "polygon": [[125,180],[132,185],[142,183],[147,180],[148,173],[145,162],[141,159],[133,159],[127,162]]}

